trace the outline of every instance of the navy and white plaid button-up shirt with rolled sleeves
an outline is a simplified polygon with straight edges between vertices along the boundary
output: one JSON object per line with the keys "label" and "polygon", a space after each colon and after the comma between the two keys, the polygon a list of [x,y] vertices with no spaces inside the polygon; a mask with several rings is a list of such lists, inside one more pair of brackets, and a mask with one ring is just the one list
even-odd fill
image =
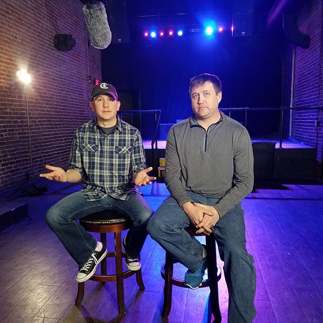
{"label": "navy and white plaid button-up shirt with rolled sleeves", "polygon": [[128,200],[132,192],[139,192],[133,175],[145,168],[139,131],[119,118],[109,135],[96,119],[75,131],[69,169],[81,174],[82,192],[88,201],[106,195]]}

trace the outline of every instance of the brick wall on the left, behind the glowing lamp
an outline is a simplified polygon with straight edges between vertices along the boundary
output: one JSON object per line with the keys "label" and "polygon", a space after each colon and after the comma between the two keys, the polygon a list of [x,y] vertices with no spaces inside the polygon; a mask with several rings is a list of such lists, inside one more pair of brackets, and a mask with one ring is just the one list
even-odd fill
{"label": "brick wall on the left, behind the glowing lamp", "polygon": [[[43,0],[0,3],[0,190],[31,173],[26,94],[16,72],[27,68],[34,175],[45,164],[66,168],[75,129],[90,120],[87,31],[82,3],[47,0],[58,33],[71,34],[69,51],[53,46],[55,28]],[[101,53],[88,47],[89,74],[101,79]]]}

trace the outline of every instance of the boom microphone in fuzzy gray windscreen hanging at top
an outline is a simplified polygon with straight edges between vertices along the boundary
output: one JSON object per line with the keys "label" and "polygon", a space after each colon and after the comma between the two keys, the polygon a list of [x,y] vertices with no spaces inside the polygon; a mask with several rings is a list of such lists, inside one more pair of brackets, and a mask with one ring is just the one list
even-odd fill
{"label": "boom microphone in fuzzy gray windscreen hanging at top", "polygon": [[83,6],[83,13],[91,45],[99,49],[109,46],[111,43],[111,30],[107,23],[104,5],[101,2],[92,1]]}

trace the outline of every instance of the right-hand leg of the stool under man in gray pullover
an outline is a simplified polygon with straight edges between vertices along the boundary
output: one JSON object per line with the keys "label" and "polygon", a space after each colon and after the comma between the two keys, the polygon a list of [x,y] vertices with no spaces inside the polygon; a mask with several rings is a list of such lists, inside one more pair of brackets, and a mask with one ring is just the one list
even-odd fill
{"label": "right-hand leg of the stool under man in gray pullover", "polygon": [[214,316],[214,322],[220,323],[222,320],[220,305],[219,305],[219,291],[218,291],[218,266],[217,266],[217,250],[216,240],[211,234],[205,237],[207,248],[207,275],[210,281],[210,303]]}

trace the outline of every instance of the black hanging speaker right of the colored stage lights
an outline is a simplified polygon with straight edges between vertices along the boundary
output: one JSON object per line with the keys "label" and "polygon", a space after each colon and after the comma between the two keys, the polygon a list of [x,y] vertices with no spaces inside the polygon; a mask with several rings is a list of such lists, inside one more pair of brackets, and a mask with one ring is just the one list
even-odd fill
{"label": "black hanging speaker right of the colored stage lights", "polygon": [[254,0],[235,0],[233,9],[233,37],[251,36]]}

